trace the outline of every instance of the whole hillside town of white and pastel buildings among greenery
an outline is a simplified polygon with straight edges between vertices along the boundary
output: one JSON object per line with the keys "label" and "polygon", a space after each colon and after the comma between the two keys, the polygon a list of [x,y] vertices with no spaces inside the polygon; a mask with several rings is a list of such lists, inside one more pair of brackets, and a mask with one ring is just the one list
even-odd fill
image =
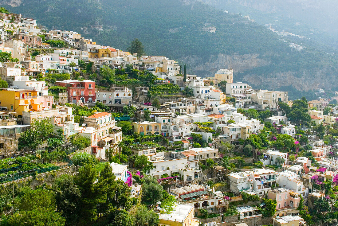
{"label": "whole hillside town of white and pastel buildings among greenery", "polygon": [[338,92],[289,100],[1,9],[0,226],[337,223]]}

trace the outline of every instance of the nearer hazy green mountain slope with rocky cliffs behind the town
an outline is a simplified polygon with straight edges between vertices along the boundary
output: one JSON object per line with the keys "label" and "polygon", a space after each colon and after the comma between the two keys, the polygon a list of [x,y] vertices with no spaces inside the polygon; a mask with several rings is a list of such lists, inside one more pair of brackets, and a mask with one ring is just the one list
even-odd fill
{"label": "nearer hazy green mountain slope with rocky cliffs behind the town", "polygon": [[[202,77],[232,67],[235,80],[254,87],[331,89],[337,82],[336,56],[312,47],[294,51],[264,26],[197,0],[0,0],[0,5],[102,45],[126,49],[137,37],[148,54],[187,62],[188,73]],[[203,31],[205,25],[216,32]]]}

